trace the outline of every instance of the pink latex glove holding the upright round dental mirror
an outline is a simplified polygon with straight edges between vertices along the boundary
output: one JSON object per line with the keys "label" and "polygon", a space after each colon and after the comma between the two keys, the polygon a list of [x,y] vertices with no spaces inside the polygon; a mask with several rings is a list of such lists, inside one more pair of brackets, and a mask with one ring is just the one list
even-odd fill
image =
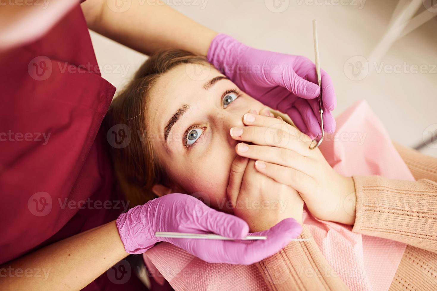
{"label": "pink latex glove holding the upright round dental mirror", "polygon": [[[243,45],[229,35],[218,34],[208,50],[208,62],[240,89],[273,109],[288,114],[295,125],[310,137],[321,133],[319,125],[319,86],[316,65],[299,55],[261,51]],[[321,70],[323,125],[335,131],[331,111],[336,106],[334,86]]]}

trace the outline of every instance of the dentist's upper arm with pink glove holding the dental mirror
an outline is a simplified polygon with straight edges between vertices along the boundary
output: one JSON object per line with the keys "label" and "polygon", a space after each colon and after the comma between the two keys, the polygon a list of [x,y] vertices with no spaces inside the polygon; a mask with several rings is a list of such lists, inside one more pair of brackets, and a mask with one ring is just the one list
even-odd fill
{"label": "dentist's upper arm with pink glove holding the dental mirror", "polygon": [[[205,55],[240,89],[287,113],[302,132],[311,137],[320,133],[320,89],[315,84],[316,65],[309,58],[250,48],[192,21],[159,0],[128,1],[120,8],[109,6],[109,2],[87,0],[81,4],[92,30],[145,54],[178,48]],[[330,133],[335,130],[331,111],[336,97],[331,78],[321,72],[323,123],[325,132]]]}

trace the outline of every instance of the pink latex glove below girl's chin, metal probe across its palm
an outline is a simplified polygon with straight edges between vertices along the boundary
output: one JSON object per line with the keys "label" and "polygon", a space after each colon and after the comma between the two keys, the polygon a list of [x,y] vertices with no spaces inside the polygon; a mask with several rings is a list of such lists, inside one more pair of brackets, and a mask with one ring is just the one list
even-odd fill
{"label": "pink latex glove below girl's chin, metal probe across its palm", "polygon": [[121,214],[118,233],[128,253],[144,253],[155,243],[172,243],[209,263],[253,264],[269,257],[299,236],[302,226],[284,219],[271,229],[256,233],[267,240],[199,240],[160,238],[156,231],[216,233],[241,239],[248,234],[247,223],[236,216],[218,212],[186,194],[168,194]]}

